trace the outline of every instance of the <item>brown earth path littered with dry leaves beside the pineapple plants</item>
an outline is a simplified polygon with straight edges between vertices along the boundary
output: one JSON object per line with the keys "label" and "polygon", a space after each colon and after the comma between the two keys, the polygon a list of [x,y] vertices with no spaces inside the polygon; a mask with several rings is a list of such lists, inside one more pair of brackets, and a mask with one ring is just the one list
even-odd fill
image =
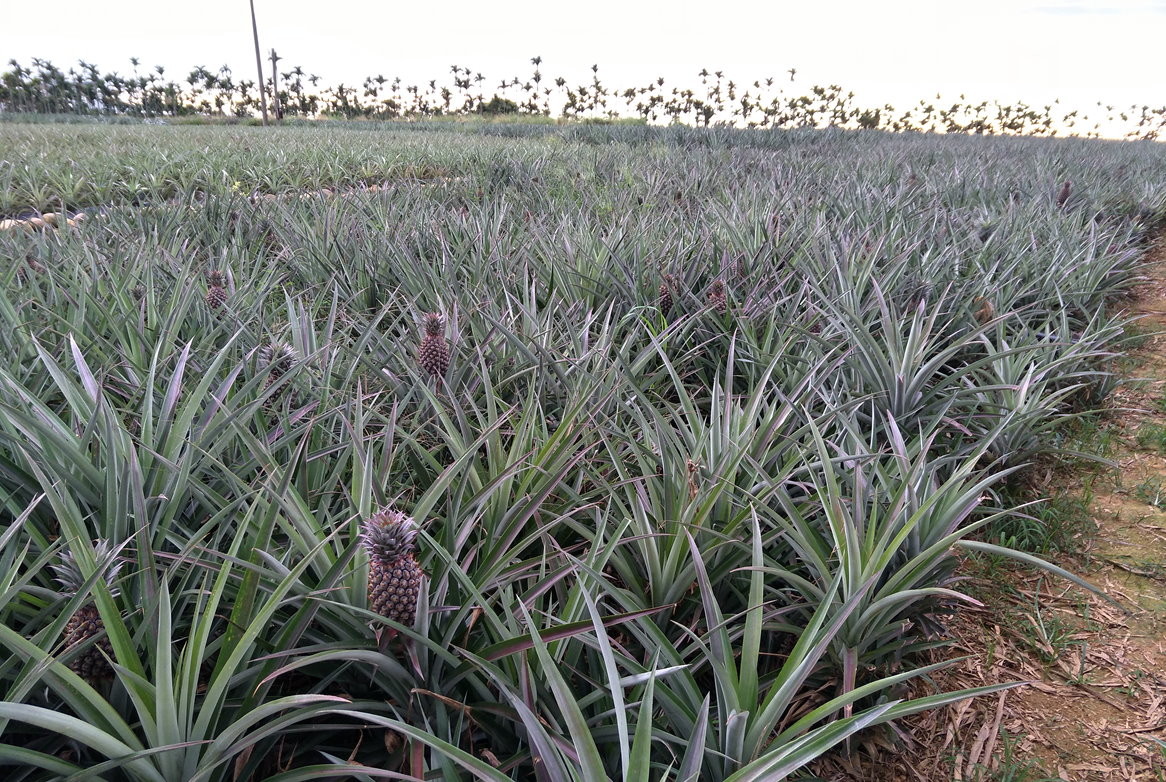
{"label": "brown earth path littered with dry leaves beside the pineapple plants", "polygon": [[1149,337],[1102,420],[1115,466],[1039,479],[1083,498],[1096,523],[1080,552],[1046,558],[1111,600],[1041,571],[968,563],[964,591],[985,605],[962,610],[936,654],[967,657],[915,695],[1025,684],[906,720],[858,759],[827,760],[821,779],[1166,782],[1166,238],[1144,274],[1126,307]]}

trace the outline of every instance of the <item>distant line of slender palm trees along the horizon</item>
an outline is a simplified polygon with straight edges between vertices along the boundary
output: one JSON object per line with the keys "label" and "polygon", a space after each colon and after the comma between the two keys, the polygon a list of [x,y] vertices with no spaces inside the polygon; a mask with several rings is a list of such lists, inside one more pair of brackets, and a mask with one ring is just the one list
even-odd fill
{"label": "distant line of slender palm trees along the horizon", "polygon": [[[274,54],[274,52],[273,52]],[[0,112],[117,115],[140,118],[253,118],[260,90],[254,79],[237,78],[231,68],[198,65],[176,78],[163,65],[143,69],[131,57],[132,73],[103,72],[79,61],[62,70],[47,59],[26,66],[16,59],[0,73]],[[545,76],[541,57],[531,58],[526,76],[486,79],[469,66],[451,65],[441,79],[405,84],[399,77],[368,76],[359,84],[322,84],[296,65],[265,79],[264,92],[282,117],[343,119],[421,119],[476,114],[524,114],[566,119],[637,119],[652,124],[708,127],[845,127],[883,131],[1010,135],[1098,136],[1114,128],[1129,139],[1156,140],[1166,131],[1166,106],[1118,107],[1098,103],[1089,113],[1046,105],[996,100],[920,100],[907,108],[864,106],[836,84],[788,91],[796,69],[781,78],[737,82],[723,71],[702,69],[691,86],[658,77],[644,85],[609,86],[591,76],[573,84]],[[801,92],[801,94],[795,94]],[[1104,122],[1104,126],[1103,126]]]}

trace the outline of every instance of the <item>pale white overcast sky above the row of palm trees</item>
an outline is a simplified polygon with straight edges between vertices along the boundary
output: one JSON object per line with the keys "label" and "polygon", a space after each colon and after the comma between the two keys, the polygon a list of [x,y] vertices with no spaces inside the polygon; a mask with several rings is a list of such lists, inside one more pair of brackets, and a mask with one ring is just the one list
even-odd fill
{"label": "pale white overcast sky above the row of palm trees", "polygon": [[[178,80],[195,65],[223,64],[254,78],[247,0],[52,0],[29,12],[34,23],[29,8],[0,0],[0,19],[24,19],[0,24],[0,69],[8,58],[43,57],[64,70],[85,59],[128,75],[136,56]],[[324,84],[375,73],[448,82],[459,64],[493,86],[526,78],[540,55],[546,78],[575,84],[598,63],[609,87],[656,76],[691,86],[708,68],[738,84],[836,83],[863,105],[900,110],[936,92],[1033,105],[1060,97],[1086,110],[1097,100],[1166,104],[1166,0],[255,0],[255,8],[264,52],[274,47],[281,69],[302,65]]]}

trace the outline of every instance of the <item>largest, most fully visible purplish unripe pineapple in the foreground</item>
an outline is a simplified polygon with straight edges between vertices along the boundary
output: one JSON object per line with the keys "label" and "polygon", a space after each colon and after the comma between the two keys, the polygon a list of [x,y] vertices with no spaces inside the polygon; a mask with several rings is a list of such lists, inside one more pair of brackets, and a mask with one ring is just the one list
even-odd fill
{"label": "largest, most fully visible purplish unripe pineapple in the foreground", "polygon": [[421,592],[416,537],[417,522],[393,508],[374,513],[360,527],[368,554],[368,607],[406,627],[417,618]]}

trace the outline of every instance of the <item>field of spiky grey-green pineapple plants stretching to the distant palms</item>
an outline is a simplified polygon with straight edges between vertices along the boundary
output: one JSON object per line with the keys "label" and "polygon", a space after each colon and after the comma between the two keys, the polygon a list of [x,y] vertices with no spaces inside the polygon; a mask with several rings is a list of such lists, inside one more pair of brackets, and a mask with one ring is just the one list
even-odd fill
{"label": "field of spiky grey-green pineapple plants stretching to the distant palms", "polygon": [[1138,337],[1156,143],[0,147],[6,780],[816,779],[1017,684],[935,684],[963,563],[1097,590],[1016,529]]}

